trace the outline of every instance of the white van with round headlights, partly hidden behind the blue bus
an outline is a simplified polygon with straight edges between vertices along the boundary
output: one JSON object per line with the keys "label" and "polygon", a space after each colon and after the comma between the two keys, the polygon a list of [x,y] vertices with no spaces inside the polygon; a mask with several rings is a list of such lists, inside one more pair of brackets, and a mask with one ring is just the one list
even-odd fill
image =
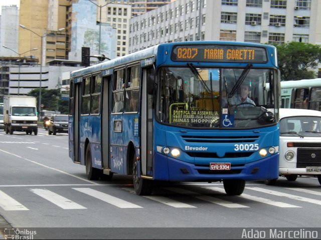
{"label": "white van with round headlights, partly hidden behind the blue bus", "polygon": [[[317,176],[321,184],[321,112],[281,108],[279,176]],[[276,179],[265,180],[274,185]]]}

